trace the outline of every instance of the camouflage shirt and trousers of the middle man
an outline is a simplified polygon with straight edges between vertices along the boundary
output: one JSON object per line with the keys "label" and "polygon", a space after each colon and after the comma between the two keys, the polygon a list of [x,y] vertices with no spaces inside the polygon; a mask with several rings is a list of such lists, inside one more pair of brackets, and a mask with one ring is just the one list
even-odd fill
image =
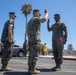
{"label": "camouflage shirt and trousers of the middle man", "polygon": [[40,44],[40,23],[41,19],[33,17],[27,24],[28,46],[29,46],[29,66],[35,66],[38,58]]}

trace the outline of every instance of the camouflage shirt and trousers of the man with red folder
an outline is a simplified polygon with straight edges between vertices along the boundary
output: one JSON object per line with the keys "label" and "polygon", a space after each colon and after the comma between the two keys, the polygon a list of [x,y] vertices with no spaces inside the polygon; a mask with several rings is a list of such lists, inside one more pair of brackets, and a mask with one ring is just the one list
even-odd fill
{"label": "camouflage shirt and trousers of the man with red folder", "polygon": [[63,22],[57,22],[52,25],[52,47],[53,47],[53,55],[55,58],[56,64],[62,64],[63,58],[63,44],[60,41],[60,37],[63,36],[63,29],[66,28]]}

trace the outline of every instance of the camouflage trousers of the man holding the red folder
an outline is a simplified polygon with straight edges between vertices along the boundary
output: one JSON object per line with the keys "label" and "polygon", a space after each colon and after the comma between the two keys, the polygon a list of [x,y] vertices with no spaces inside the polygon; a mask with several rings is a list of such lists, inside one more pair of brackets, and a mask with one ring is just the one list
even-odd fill
{"label": "camouflage trousers of the man holding the red folder", "polygon": [[60,41],[53,41],[53,55],[56,64],[62,64],[63,61],[63,44]]}

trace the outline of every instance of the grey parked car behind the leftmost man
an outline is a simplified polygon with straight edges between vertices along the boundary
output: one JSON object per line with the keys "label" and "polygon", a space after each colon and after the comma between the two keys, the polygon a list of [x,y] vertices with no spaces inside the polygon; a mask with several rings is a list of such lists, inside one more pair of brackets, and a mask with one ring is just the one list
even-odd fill
{"label": "grey parked car behind the leftmost man", "polygon": [[[3,48],[3,47],[2,47]],[[2,49],[0,49],[0,54]],[[13,47],[13,56],[23,57],[24,56],[24,50],[22,46],[14,45]]]}

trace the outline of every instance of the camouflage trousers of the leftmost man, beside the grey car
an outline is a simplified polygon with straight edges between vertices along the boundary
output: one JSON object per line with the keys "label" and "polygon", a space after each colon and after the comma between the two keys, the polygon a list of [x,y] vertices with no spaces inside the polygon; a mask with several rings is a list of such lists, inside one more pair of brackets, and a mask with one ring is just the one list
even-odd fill
{"label": "camouflage trousers of the leftmost man, beside the grey car", "polygon": [[2,59],[1,59],[2,65],[7,66],[10,58],[12,57],[12,53],[13,53],[13,44],[5,42],[4,49],[2,50]]}

